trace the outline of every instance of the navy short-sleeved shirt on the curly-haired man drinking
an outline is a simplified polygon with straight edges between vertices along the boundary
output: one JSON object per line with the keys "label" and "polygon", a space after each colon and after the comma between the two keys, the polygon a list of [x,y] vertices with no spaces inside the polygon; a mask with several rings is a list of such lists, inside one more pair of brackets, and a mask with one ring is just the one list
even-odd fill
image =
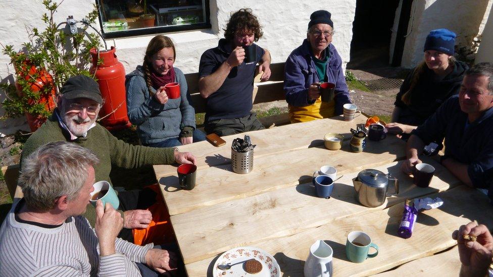
{"label": "navy short-sleeved shirt on the curly-haired man drinking", "polygon": [[[257,49],[256,62],[241,63],[231,69],[228,77],[219,89],[207,98],[206,120],[241,118],[252,110],[254,74],[257,63],[264,56],[264,49]],[[219,40],[218,46],[202,54],[199,66],[199,78],[214,73],[231,54],[231,46],[226,39]]]}

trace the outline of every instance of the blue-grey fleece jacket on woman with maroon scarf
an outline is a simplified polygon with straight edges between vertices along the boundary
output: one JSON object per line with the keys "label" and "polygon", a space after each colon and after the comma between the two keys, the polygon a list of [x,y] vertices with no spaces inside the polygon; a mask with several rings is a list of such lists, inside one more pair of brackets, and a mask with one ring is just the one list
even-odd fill
{"label": "blue-grey fleece jacket on woman with maroon scarf", "polygon": [[[195,129],[195,109],[190,103],[185,75],[176,67],[175,73],[175,82],[180,84],[180,97],[169,99],[164,105],[149,96],[142,66],[137,66],[126,76],[128,119],[137,125],[143,144],[177,138],[185,126]],[[156,92],[154,88],[152,91]]]}

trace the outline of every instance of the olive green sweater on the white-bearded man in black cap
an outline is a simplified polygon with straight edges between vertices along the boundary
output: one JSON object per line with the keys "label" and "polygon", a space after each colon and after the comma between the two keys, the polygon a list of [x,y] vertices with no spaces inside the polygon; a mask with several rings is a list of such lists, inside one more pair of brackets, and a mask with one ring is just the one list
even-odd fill
{"label": "olive green sweater on the white-bearded man in black cap", "polygon": [[[24,144],[21,155],[21,172],[25,157],[48,142],[61,140],[71,141],[70,134],[60,127],[57,116],[53,114]],[[110,172],[112,164],[124,169],[136,169],[143,165],[171,164],[175,162],[174,148],[131,145],[117,139],[99,124],[91,128],[86,137],[80,137],[71,142],[91,149],[100,159],[100,163],[94,167],[96,182],[108,181],[111,184]],[[95,211],[91,205],[88,205],[84,216],[94,226]]]}

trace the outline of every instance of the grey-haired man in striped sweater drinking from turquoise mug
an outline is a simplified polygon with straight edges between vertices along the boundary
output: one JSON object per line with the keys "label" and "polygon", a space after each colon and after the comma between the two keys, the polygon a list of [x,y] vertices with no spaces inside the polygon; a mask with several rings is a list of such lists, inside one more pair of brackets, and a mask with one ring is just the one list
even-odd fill
{"label": "grey-haired man in striped sweater drinking from turquoise mug", "polygon": [[98,162],[93,151],[65,141],[24,158],[19,176],[24,198],[15,200],[0,228],[0,276],[140,276],[144,267],[173,270],[174,253],[116,238],[123,218],[110,203],[104,207],[97,201],[94,230],[81,216]]}

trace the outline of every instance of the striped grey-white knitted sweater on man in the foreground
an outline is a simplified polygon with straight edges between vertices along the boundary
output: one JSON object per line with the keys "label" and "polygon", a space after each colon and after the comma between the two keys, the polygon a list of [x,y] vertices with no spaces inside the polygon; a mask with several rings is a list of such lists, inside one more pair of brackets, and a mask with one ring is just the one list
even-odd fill
{"label": "striped grey-white knitted sweater on man in the foreground", "polygon": [[56,228],[42,228],[16,220],[19,203],[24,200],[14,202],[0,228],[0,277],[140,276],[134,262],[145,262],[153,244],[117,239],[116,253],[102,257],[94,230],[81,215]]}

